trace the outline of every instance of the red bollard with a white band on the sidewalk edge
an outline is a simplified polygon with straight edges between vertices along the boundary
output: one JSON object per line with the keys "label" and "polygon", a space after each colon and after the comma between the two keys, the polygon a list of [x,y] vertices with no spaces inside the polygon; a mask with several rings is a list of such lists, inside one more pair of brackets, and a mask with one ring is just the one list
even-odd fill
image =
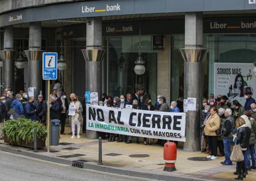
{"label": "red bollard with a white band on the sidewalk edge", "polygon": [[176,171],[175,162],[177,157],[177,146],[174,142],[164,144],[164,171]]}

